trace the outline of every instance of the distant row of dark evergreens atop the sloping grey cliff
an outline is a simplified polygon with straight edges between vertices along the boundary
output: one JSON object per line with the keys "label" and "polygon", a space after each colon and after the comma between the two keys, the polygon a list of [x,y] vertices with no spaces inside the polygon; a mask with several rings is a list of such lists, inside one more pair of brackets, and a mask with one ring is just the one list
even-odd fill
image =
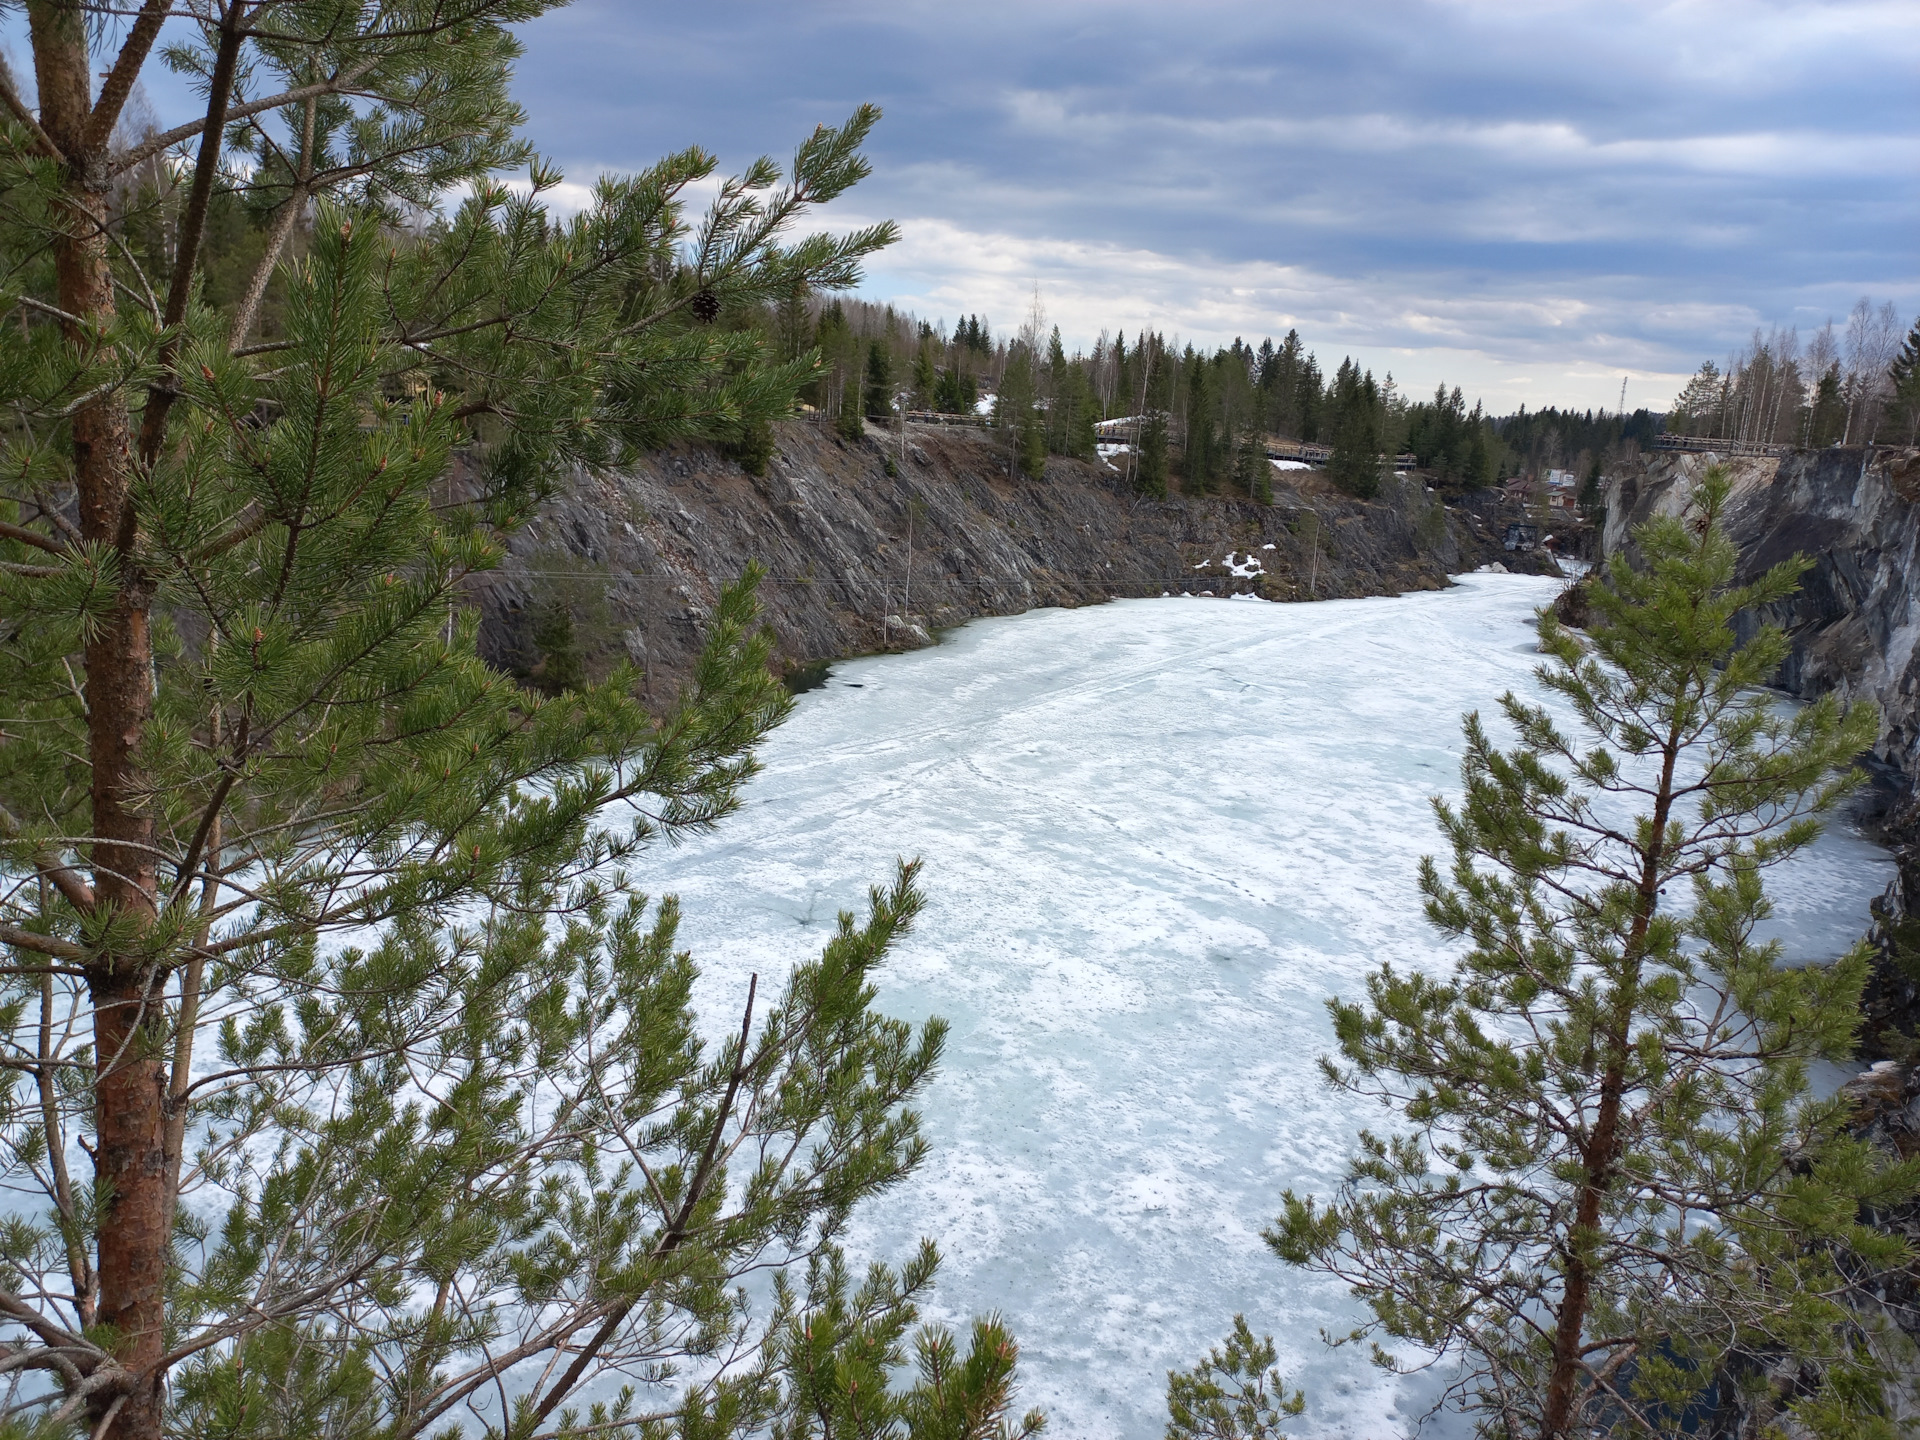
{"label": "distant row of dark evergreens atop the sloping grey cliff", "polygon": [[1290,328],[1258,346],[1235,338],[1212,351],[1160,330],[1102,330],[1089,353],[1068,349],[1035,303],[1018,326],[983,313],[925,321],[866,300],[795,296],[772,315],[724,323],[760,328],[783,359],[818,349],[824,371],[804,401],[843,434],[904,411],[983,415],[1008,432],[1027,474],[1046,455],[1092,459],[1094,426],[1137,420],[1114,459],[1142,492],[1164,495],[1271,488],[1265,442],[1325,445],[1342,490],[1373,495],[1394,457],[1411,455],[1442,486],[1478,488],[1565,468],[1597,482],[1605,467],[1661,434],[1665,415],[1638,409],[1546,407],[1488,415],[1459,386],[1415,399],[1392,372],[1377,378],[1352,355],[1327,367]]}

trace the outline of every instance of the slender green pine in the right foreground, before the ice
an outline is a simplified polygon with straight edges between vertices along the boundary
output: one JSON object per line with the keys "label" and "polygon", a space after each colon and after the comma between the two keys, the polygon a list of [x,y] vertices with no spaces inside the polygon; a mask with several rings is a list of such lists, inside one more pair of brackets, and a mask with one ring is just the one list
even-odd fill
{"label": "slender green pine in the right foreground, before the ice", "polygon": [[[1538,674],[1576,730],[1507,695],[1498,749],[1467,716],[1465,797],[1434,803],[1453,858],[1421,868],[1467,950],[1331,1002],[1331,1083],[1411,1129],[1361,1135],[1334,1202],[1288,1194],[1269,1233],[1348,1281],[1365,1329],[1461,1356],[1486,1434],[1667,1434],[1740,1357],[1780,1354],[1824,1380],[1803,1425],[1891,1434],[1857,1404],[1874,1365],[1841,1298],[1849,1267],[1905,1263],[1860,1206],[1920,1177],[1807,1075],[1853,1041],[1866,948],[1784,968],[1755,937],[1766,872],[1851,789],[1876,716],[1761,689],[1786,637],[1734,620],[1807,561],[1736,586],[1728,490],[1715,467],[1688,516],[1636,532],[1645,570],[1592,588],[1590,643],[1542,612]],[[1764,1384],[1747,1400],[1778,1419]]]}

